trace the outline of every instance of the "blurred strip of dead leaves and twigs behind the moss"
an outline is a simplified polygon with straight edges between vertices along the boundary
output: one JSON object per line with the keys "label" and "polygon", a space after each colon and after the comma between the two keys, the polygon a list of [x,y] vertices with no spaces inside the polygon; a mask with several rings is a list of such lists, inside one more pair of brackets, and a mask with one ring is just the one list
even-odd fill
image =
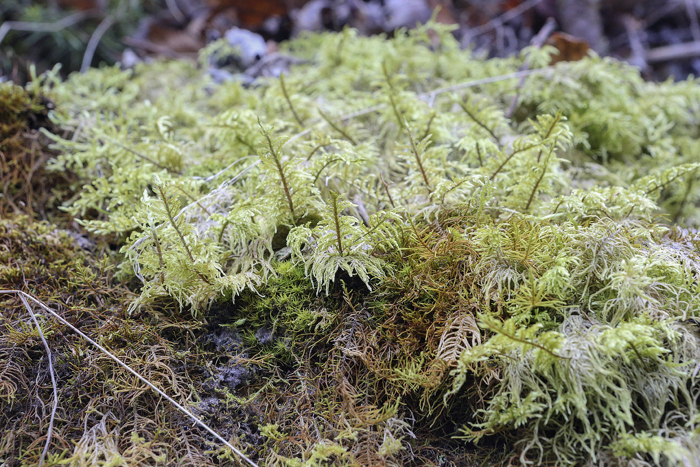
{"label": "blurred strip of dead leaves and twigs behind the moss", "polygon": [[647,79],[685,79],[700,74],[699,10],[700,0],[0,0],[0,81],[26,82],[31,63],[38,72],[60,63],[69,74],[102,62],[196,59],[232,27],[276,49],[304,30],[391,35],[431,15],[477,55],[517,54],[554,18],[548,43],[562,55],[594,50]]}

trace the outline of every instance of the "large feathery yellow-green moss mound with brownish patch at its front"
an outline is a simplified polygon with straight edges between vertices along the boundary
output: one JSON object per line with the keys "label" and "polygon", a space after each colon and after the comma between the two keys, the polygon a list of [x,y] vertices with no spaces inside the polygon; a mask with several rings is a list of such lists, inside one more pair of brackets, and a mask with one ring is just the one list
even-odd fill
{"label": "large feathery yellow-green moss mound with brownish patch at its front", "polygon": [[435,24],[288,52],[250,87],[46,78],[64,209],[122,245],[132,309],[226,310],[274,375],[261,462],[437,464],[431,430],[524,464],[700,459],[700,240],[663,223],[700,219],[697,81],[590,56],[442,90],[549,49],[476,60]]}

